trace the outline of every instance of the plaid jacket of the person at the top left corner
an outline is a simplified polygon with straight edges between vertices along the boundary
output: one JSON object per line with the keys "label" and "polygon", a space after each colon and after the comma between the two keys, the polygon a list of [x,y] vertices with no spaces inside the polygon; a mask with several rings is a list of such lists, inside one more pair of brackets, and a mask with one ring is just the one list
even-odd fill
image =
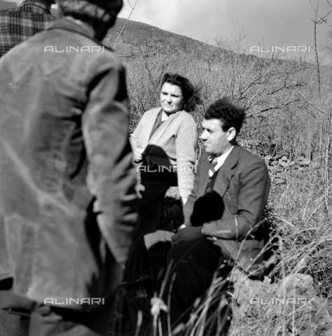
{"label": "plaid jacket of the person at the top left corner", "polygon": [[25,0],[18,8],[0,11],[0,57],[18,43],[43,31],[55,20],[50,7]]}

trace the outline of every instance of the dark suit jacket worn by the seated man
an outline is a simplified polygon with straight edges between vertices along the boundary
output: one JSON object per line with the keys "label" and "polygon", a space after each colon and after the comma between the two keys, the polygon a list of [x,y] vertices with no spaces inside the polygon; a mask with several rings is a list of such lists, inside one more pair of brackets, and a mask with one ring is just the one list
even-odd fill
{"label": "dark suit jacket worn by the seated man", "polygon": [[[251,274],[261,274],[262,215],[270,190],[265,162],[236,145],[215,173],[212,192],[207,193],[208,158],[207,153],[200,156],[194,187],[184,207],[185,225],[198,222],[203,235],[214,240],[230,262]],[[200,209],[205,200],[209,206],[214,204],[212,211]]]}

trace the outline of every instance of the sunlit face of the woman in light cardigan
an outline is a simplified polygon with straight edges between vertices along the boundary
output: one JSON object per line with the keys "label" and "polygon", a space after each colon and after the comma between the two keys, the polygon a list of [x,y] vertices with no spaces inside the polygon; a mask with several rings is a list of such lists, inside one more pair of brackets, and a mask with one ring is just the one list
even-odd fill
{"label": "sunlit face of the woman in light cardigan", "polygon": [[160,91],[160,105],[166,113],[175,113],[182,109],[184,96],[178,85],[165,82]]}

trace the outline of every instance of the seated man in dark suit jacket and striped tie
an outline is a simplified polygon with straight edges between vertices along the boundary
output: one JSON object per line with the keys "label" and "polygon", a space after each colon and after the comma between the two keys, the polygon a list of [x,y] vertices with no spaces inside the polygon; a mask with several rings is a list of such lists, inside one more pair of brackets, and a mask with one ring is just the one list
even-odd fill
{"label": "seated man in dark suit jacket and striped tie", "polygon": [[[170,295],[172,324],[186,321],[217,269],[225,279],[234,266],[252,277],[263,275],[261,224],[270,178],[265,162],[236,144],[244,118],[244,109],[219,99],[209,106],[202,121],[200,139],[205,153],[198,161],[193,190],[184,207],[184,225],[172,235],[167,251],[171,272],[163,300],[168,303]],[[157,253],[150,252],[158,241],[156,236],[159,241],[170,239],[160,231],[144,237],[152,268],[158,265]],[[142,258],[146,260],[146,254]],[[176,274],[174,282],[172,274]]]}

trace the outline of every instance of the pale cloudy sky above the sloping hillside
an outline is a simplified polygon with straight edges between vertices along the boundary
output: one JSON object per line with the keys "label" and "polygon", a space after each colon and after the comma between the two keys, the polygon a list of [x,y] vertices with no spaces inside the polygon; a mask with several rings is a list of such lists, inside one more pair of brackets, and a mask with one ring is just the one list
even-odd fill
{"label": "pale cloudy sky above the sloping hillside", "polygon": [[[123,1],[120,17],[127,18],[131,8]],[[130,0],[132,6],[135,1]],[[210,43],[216,39],[229,43],[243,31],[242,47],[247,53],[258,45],[265,51],[272,46],[306,45],[311,47],[307,56],[313,58],[317,1],[319,15],[332,10],[328,0],[137,0],[131,19]],[[327,24],[317,27],[319,43],[326,38],[329,25],[332,13]],[[289,52],[289,57],[300,54],[303,51]]]}

